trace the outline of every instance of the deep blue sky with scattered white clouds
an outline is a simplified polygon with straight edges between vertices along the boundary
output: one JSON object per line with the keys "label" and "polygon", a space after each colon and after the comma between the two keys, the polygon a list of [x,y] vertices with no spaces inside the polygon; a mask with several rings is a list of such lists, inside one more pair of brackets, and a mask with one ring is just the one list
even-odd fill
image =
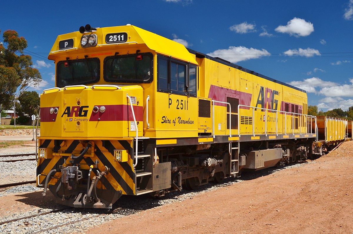
{"label": "deep blue sky with scattered white clouds", "polygon": [[353,0],[19,0],[1,9],[1,32],[28,41],[43,78],[30,89],[38,93],[54,86],[47,56],[57,35],[132,24],[305,89],[319,110],[353,106]]}

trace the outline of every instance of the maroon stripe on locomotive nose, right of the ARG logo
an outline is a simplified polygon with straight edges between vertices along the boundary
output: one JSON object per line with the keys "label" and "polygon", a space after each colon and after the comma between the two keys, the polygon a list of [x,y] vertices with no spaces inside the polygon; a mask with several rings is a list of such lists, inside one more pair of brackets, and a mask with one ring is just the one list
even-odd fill
{"label": "maroon stripe on locomotive nose, right of the ARG logo", "polygon": [[[98,106],[98,105],[97,105]],[[129,105],[101,105],[106,111],[101,113],[92,111],[89,121],[133,121],[131,107]],[[98,106],[100,108],[101,106]],[[143,107],[133,106],[136,121],[143,121]]]}

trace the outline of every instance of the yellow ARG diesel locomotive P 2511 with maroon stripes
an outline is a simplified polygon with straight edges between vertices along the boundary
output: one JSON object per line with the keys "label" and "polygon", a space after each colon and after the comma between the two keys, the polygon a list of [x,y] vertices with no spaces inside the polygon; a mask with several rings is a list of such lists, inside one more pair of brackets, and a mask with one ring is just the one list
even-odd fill
{"label": "yellow ARG diesel locomotive P 2511 with maroon stripes", "polygon": [[37,186],[73,207],[162,196],[319,152],[304,90],[133,25],[57,37]]}

